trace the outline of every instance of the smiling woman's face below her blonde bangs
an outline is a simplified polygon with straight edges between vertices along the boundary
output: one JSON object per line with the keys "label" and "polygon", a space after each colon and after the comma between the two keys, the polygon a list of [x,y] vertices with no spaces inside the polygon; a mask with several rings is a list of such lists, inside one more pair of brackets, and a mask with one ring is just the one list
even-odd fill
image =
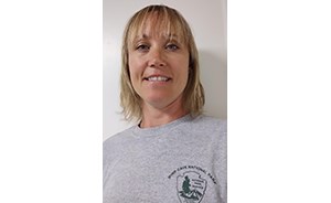
{"label": "smiling woman's face below her blonde bangs", "polygon": [[189,76],[189,51],[175,35],[156,31],[152,24],[147,21],[142,33],[129,45],[129,72],[143,105],[162,109],[182,103]]}

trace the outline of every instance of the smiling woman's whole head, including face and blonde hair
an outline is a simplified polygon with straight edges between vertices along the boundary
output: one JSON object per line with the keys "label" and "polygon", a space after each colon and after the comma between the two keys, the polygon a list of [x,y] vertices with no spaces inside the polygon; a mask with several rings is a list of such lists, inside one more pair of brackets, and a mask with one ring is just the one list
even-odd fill
{"label": "smiling woman's whole head, including face and blonde hair", "polygon": [[[121,106],[126,118],[136,118],[142,125],[150,122],[150,116],[143,115],[152,113],[150,107],[177,113],[168,114],[171,118],[166,122],[188,113],[201,114],[204,93],[197,60],[191,29],[179,12],[167,7],[148,7],[137,12],[125,29],[122,42]],[[153,83],[145,79],[151,76]],[[156,83],[159,76],[167,83]],[[148,127],[161,122],[164,121]]]}

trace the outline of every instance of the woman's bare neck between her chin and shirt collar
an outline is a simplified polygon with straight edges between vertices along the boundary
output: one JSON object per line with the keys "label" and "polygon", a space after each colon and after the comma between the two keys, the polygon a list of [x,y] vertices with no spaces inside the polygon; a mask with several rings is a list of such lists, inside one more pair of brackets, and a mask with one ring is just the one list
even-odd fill
{"label": "woman's bare neck between her chin and shirt collar", "polygon": [[156,108],[148,104],[142,105],[141,128],[157,127],[169,124],[185,116],[185,111],[179,101],[174,101],[164,108]]}

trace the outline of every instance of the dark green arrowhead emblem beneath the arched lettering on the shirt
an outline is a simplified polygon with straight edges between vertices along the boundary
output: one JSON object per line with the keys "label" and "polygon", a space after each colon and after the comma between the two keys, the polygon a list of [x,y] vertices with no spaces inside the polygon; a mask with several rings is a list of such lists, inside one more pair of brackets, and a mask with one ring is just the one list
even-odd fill
{"label": "dark green arrowhead emblem beneath the arched lettering on the shirt", "polygon": [[188,171],[177,177],[177,191],[181,203],[199,203],[206,190],[206,180],[197,172]]}

